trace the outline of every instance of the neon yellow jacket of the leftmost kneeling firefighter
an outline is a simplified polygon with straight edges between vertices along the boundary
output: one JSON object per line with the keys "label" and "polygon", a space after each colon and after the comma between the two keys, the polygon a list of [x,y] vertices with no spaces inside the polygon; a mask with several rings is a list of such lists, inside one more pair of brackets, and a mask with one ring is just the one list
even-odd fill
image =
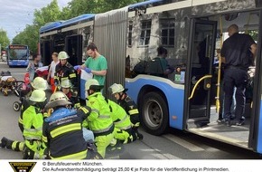
{"label": "neon yellow jacket of the leftmost kneeling firefighter", "polygon": [[37,152],[42,146],[42,110],[31,105],[23,112],[23,138],[25,145]]}

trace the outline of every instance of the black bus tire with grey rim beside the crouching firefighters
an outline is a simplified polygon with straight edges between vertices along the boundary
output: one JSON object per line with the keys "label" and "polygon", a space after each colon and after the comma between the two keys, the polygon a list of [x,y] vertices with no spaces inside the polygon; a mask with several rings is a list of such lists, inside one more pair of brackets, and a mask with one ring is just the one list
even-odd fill
{"label": "black bus tire with grey rim beside the crouching firefighters", "polygon": [[141,119],[145,130],[159,136],[168,128],[168,108],[163,96],[157,92],[148,92],[141,101]]}

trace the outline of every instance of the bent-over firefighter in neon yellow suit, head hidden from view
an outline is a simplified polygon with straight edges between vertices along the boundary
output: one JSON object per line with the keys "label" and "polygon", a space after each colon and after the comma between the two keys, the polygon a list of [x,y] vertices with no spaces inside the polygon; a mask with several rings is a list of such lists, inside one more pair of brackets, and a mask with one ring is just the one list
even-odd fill
{"label": "bent-over firefighter in neon yellow suit, head hidden from view", "polygon": [[[115,125],[114,137],[126,144],[136,140],[136,132],[126,111],[112,100],[106,99],[111,110],[111,118]],[[117,143],[116,143],[117,144]]]}

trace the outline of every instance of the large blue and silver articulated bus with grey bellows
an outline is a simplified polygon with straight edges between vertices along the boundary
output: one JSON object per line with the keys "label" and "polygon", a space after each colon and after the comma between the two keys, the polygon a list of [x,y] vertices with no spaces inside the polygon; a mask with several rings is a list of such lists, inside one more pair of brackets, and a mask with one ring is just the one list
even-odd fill
{"label": "large blue and silver articulated bus with grey bellows", "polygon": [[[149,0],[44,25],[40,30],[42,56],[49,63],[52,52],[65,50],[72,65],[81,64],[86,46],[94,42],[108,60],[106,87],[114,82],[126,85],[147,132],[161,135],[168,128],[181,129],[261,154],[261,14],[260,0]],[[238,24],[241,33],[253,37],[257,58],[250,67],[246,124],[227,127],[217,122],[217,52],[228,38],[230,24]],[[150,62],[159,45],[168,49],[167,61],[175,72],[168,78],[147,72],[134,75],[136,64]],[[81,76],[81,99],[85,99],[84,81]]]}

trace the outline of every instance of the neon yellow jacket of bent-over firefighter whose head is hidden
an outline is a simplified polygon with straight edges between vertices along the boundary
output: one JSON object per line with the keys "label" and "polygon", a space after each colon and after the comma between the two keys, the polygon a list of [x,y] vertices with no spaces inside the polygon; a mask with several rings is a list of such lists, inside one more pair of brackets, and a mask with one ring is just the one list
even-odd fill
{"label": "neon yellow jacket of bent-over firefighter whose head is hidden", "polygon": [[111,110],[111,118],[117,129],[131,129],[132,123],[126,114],[126,111],[112,100],[107,100],[109,108]]}

